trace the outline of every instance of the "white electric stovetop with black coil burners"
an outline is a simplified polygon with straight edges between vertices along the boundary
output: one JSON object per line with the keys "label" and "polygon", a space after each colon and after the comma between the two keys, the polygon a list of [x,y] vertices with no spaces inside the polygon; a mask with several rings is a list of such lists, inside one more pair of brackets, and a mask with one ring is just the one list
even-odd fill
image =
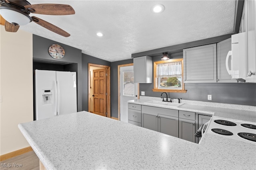
{"label": "white electric stovetop with black coil burners", "polygon": [[256,123],[212,117],[206,133],[256,145]]}

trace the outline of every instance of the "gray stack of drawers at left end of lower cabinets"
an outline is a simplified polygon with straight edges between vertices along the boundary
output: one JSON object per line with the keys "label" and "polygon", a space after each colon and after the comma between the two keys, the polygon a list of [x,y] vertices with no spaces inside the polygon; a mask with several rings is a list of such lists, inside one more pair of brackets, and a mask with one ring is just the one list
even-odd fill
{"label": "gray stack of drawers at left end of lower cabinets", "polygon": [[141,105],[128,103],[128,123],[141,127]]}

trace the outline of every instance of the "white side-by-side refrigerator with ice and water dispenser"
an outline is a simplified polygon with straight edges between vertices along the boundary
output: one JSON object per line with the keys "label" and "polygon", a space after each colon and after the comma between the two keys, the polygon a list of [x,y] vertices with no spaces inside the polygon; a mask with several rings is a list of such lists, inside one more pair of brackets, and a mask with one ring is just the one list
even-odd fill
{"label": "white side-by-side refrigerator with ice and water dispenser", "polygon": [[35,70],[35,119],[77,112],[76,72]]}

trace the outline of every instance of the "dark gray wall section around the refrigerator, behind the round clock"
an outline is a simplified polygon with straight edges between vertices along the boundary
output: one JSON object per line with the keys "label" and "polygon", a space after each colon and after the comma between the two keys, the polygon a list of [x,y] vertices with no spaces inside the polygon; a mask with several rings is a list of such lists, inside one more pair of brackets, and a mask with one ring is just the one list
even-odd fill
{"label": "dark gray wall section around the refrigerator, behind the round clock", "polygon": [[[52,44],[59,44],[64,48],[65,56],[62,59],[56,60],[49,55],[48,49]],[[78,111],[82,111],[82,51],[38,35],[33,35],[33,61],[34,63],[56,65],[68,64],[67,66],[63,66],[63,68],[65,67],[64,69],[70,69],[70,71],[75,70],[77,72],[77,109]],[[37,66],[39,65],[37,64]],[[56,68],[61,68],[61,66],[56,66]]]}

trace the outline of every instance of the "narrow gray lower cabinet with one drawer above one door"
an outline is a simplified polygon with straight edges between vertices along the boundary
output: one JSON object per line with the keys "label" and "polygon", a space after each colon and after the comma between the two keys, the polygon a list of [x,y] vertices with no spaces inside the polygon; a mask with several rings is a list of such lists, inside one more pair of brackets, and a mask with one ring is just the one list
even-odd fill
{"label": "narrow gray lower cabinet with one drawer above one door", "polygon": [[179,111],[179,138],[195,142],[196,113],[190,111]]}

